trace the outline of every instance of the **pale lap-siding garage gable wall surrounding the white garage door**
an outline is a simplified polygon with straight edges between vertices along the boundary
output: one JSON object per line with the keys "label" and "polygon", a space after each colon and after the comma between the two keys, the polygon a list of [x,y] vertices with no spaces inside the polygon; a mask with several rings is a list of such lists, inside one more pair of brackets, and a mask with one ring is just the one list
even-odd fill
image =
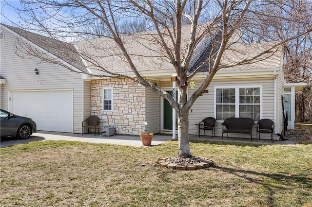
{"label": "pale lap-siding garage gable wall surrounding the white garage door", "polygon": [[[83,118],[81,74],[56,64],[42,62],[36,57],[29,56],[26,59],[17,56],[15,51],[20,47],[15,45],[16,36],[3,28],[1,32],[5,33],[5,37],[0,40],[0,71],[1,76],[7,79],[6,84],[1,85],[1,108],[7,110],[9,108],[9,91],[72,89],[74,91],[74,133],[81,133]],[[35,75],[36,68],[39,70],[39,75]]]}

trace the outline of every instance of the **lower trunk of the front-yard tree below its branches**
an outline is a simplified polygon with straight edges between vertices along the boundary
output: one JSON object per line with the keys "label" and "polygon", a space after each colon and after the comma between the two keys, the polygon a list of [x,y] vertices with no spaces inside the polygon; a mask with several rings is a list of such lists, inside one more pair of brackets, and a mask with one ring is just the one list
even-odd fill
{"label": "lower trunk of the front-yard tree below its branches", "polygon": [[189,112],[177,112],[177,132],[178,132],[178,157],[192,157],[189,142]]}

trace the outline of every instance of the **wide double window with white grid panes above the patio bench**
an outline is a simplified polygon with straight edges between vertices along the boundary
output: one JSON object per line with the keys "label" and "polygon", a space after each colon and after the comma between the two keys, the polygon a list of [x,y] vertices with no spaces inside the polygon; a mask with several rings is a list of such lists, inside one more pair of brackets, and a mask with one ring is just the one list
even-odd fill
{"label": "wide double window with white grid panes above the patio bench", "polygon": [[216,120],[230,117],[251,118],[259,121],[261,117],[261,87],[216,87]]}

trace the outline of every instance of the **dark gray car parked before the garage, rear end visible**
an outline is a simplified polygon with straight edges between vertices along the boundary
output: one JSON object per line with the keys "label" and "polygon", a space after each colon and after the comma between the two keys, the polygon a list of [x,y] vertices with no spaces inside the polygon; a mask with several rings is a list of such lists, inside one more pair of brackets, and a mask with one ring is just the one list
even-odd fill
{"label": "dark gray car parked before the garage, rear end visible", "polygon": [[3,109],[0,109],[0,111],[1,138],[17,137],[25,139],[37,132],[37,125],[33,119],[21,117]]}

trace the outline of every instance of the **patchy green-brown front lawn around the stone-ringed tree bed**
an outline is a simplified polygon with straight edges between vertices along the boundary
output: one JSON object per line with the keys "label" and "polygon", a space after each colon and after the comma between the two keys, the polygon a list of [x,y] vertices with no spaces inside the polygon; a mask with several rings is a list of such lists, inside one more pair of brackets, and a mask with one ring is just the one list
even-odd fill
{"label": "patchy green-brown front lawn around the stone-ringed tree bed", "polygon": [[312,206],[312,145],[191,142],[215,166],[160,168],[152,148],[41,141],[1,148],[1,206]]}

